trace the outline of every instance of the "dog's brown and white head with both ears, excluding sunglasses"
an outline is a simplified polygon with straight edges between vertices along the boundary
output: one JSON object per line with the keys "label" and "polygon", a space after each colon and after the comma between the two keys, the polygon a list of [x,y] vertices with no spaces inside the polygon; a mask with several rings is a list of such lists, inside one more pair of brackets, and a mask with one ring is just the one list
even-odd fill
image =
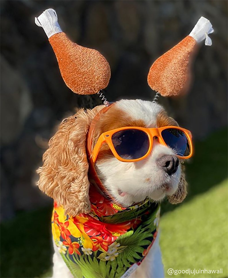
{"label": "dog's brown and white head with both ears, excluding sunglasses", "polygon": [[[44,164],[38,169],[39,188],[51,196],[66,213],[76,215],[90,211],[88,196],[89,177],[86,155],[86,135],[94,116],[103,107],[82,109],[60,124],[43,156]],[[162,127],[177,126],[157,103],[142,100],[115,102],[93,126],[92,148],[98,137],[109,130],[124,126]],[[165,165],[173,160],[173,168]],[[109,194],[123,206],[130,206],[146,197],[160,201],[165,196],[175,204],[186,197],[183,165],[173,150],[154,138],[152,152],[137,162],[117,160],[109,146],[103,144],[95,163],[96,172]]]}

